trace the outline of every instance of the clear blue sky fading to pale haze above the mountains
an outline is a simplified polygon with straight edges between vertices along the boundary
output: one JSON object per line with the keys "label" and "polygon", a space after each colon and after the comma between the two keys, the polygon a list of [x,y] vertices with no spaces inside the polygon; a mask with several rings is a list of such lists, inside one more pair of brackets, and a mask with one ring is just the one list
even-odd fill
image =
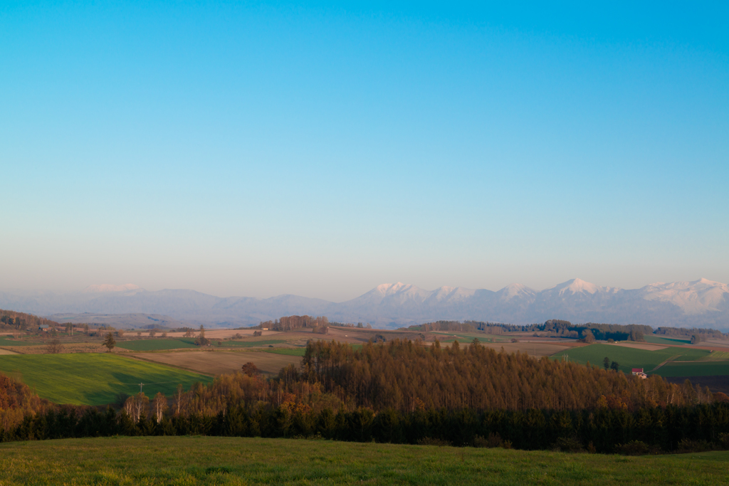
{"label": "clear blue sky fading to pale haze above the mountains", "polygon": [[0,289],[729,282],[728,15],[4,1]]}

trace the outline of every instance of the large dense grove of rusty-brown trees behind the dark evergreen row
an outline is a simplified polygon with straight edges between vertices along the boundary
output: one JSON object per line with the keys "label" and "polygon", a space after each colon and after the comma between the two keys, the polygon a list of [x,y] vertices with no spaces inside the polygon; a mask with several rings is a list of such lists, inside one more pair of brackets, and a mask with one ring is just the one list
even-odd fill
{"label": "large dense grove of rusty-brown trees behind the dark evergreen row", "polygon": [[[394,340],[354,350],[310,342],[303,377],[373,409],[588,409],[604,402],[637,409],[685,404],[687,393],[663,378],[638,380],[593,366],[496,352],[474,340],[442,348]],[[701,392],[709,400],[710,393]],[[701,396],[701,395],[700,395]]]}

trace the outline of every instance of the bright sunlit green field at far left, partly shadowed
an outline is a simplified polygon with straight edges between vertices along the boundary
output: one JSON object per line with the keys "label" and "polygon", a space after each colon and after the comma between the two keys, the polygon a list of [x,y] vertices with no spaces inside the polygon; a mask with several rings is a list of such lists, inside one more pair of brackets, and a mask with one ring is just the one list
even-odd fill
{"label": "bright sunlit green field at far left, partly shadowed", "polygon": [[0,372],[20,378],[44,399],[61,404],[101,405],[117,394],[171,395],[182,383],[208,383],[211,377],[112,353],[24,354],[0,356]]}

